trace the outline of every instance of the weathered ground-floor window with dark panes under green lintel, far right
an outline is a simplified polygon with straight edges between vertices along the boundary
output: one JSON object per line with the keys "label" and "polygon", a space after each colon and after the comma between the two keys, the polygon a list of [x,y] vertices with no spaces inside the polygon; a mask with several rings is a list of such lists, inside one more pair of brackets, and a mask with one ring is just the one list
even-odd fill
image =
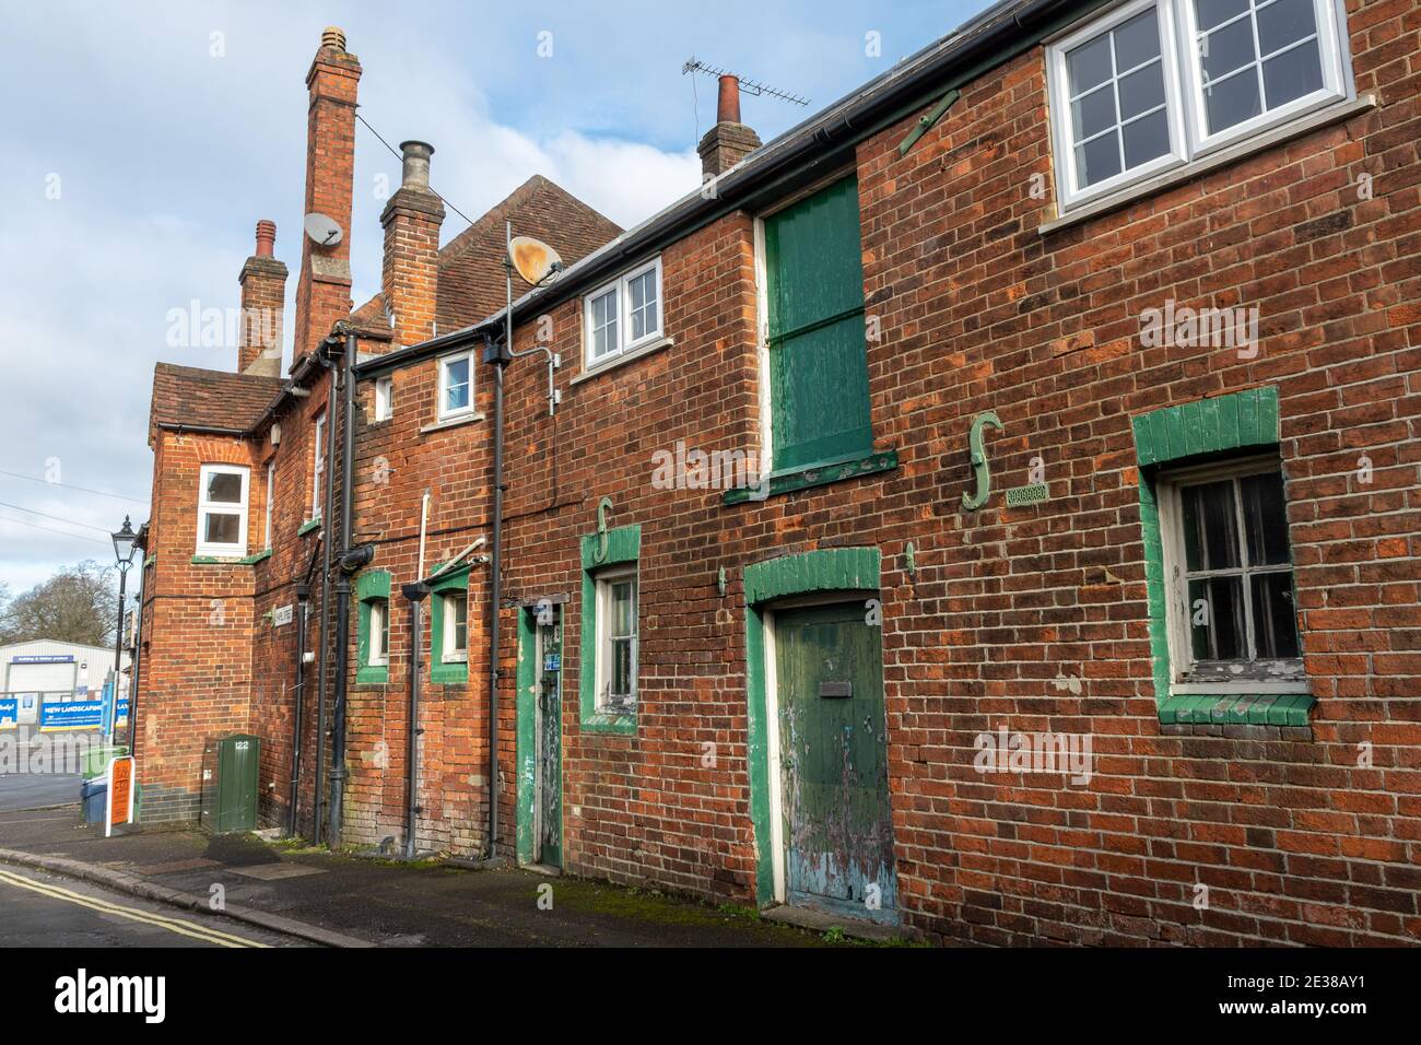
{"label": "weathered ground-floor window with dark panes under green lintel, far right", "polygon": [[1174,681],[1304,685],[1277,462],[1167,472],[1157,485]]}

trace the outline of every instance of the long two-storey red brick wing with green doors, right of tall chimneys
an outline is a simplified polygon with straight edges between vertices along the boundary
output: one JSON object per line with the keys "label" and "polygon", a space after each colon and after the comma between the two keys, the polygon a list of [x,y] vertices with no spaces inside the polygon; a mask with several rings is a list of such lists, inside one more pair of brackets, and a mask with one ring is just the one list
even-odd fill
{"label": "long two-storey red brick wing with green doors, right of tall chimneys", "polygon": [[1415,943],[1418,44],[1007,3],[763,146],[723,85],[706,183],[581,260],[513,216],[571,263],[512,361],[496,287],[361,336],[341,839],[412,802],[419,850],[934,938]]}

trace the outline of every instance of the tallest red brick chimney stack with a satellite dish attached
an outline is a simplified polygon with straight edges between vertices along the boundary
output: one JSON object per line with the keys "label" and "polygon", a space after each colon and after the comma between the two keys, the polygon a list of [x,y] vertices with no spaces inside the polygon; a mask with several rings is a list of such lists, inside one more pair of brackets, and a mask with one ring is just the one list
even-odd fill
{"label": "tallest red brick chimney stack with a satellite dish attached", "polygon": [[355,92],[360,60],[345,50],[345,34],[321,33],[321,47],[306,74],[310,109],[306,131],[306,213],[323,213],[341,227],[341,242],[320,246],[301,236],[296,287],[294,367],[351,311],[351,193],[355,176]]}

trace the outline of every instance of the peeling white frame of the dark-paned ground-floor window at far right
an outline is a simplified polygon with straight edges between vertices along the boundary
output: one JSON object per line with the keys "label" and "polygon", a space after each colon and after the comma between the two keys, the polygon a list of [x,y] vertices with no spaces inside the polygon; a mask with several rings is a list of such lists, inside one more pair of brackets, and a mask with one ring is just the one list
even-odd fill
{"label": "peeling white frame of the dark-paned ground-floor window at far right", "polygon": [[[1160,536],[1164,550],[1164,583],[1165,583],[1165,623],[1169,644],[1169,692],[1178,694],[1287,694],[1310,692],[1307,675],[1302,657],[1296,660],[1255,660],[1239,661],[1239,674],[1229,681],[1191,681],[1194,672],[1194,644],[1189,641],[1189,586],[1185,577],[1184,553],[1184,505],[1181,488],[1194,486],[1218,479],[1235,479],[1248,475],[1262,475],[1266,472],[1282,472],[1277,456],[1252,456],[1238,461],[1228,461],[1216,465],[1199,468],[1179,468],[1161,472],[1155,478],[1155,502],[1160,509]],[[1239,533],[1239,554],[1246,556],[1246,540]],[[1292,543],[1292,533],[1289,533]],[[1287,566],[1293,572],[1295,564]],[[1280,573],[1282,567],[1249,569],[1245,579],[1252,573]],[[1248,583],[1243,584],[1243,597],[1249,600]],[[1252,616],[1252,606],[1245,610]],[[1296,618],[1295,618],[1296,627]],[[1299,636],[1299,638],[1302,638]],[[1252,631],[1245,640],[1250,650],[1253,645]]]}

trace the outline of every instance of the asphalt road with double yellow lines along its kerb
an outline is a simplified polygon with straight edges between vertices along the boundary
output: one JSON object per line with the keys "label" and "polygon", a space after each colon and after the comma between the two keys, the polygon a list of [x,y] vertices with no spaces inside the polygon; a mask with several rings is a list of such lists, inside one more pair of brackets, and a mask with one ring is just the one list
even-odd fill
{"label": "asphalt road with double yellow lines along its kerb", "polygon": [[0,863],[0,947],[304,947],[61,874]]}

